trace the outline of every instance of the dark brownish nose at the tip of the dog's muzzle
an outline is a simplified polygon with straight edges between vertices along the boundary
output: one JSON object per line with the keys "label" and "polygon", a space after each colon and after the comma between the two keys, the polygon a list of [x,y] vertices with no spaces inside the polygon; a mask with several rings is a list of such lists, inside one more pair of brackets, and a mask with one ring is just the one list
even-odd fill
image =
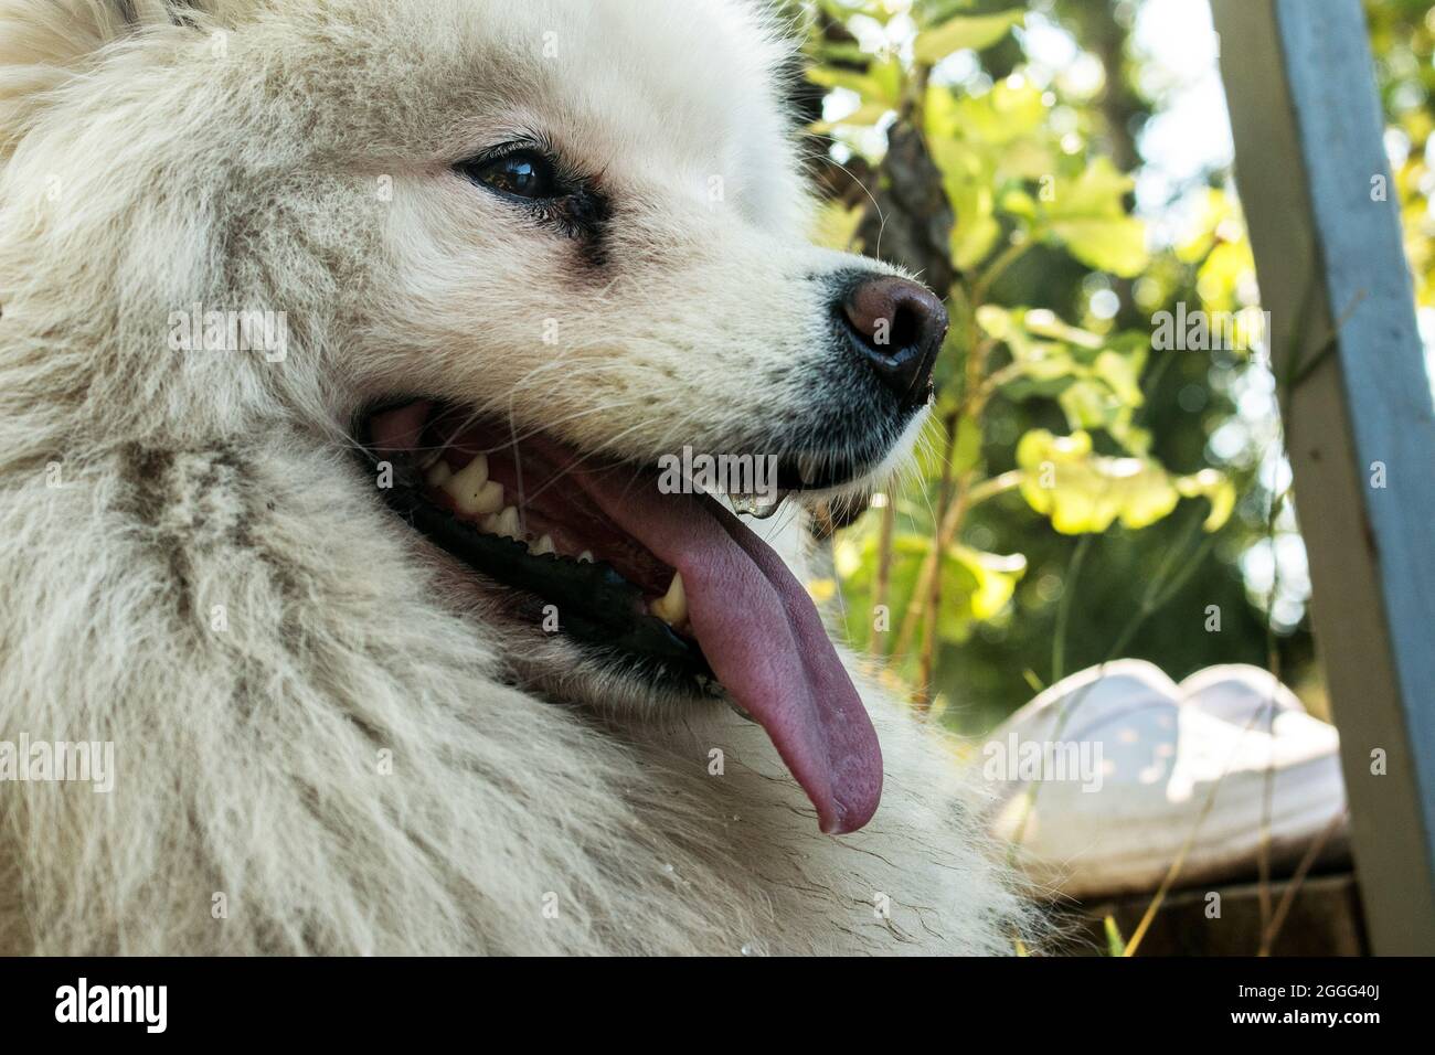
{"label": "dark brownish nose at the tip of the dog's muzzle", "polygon": [[852,346],[903,406],[926,403],[947,336],[947,309],[937,296],[905,278],[874,274],[842,297],[842,319]]}

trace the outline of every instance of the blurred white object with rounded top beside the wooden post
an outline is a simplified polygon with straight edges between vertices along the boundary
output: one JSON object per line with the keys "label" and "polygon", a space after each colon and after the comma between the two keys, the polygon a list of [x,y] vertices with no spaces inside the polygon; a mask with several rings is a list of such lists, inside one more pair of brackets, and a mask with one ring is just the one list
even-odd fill
{"label": "blurred white object with rounded top beside the wooden post", "polygon": [[997,728],[980,764],[994,833],[1072,897],[1155,890],[1192,830],[1177,887],[1254,876],[1263,827],[1273,877],[1333,824],[1319,860],[1349,854],[1340,739],[1260,667],[1181,685],[1144,660],[1082,670]]}

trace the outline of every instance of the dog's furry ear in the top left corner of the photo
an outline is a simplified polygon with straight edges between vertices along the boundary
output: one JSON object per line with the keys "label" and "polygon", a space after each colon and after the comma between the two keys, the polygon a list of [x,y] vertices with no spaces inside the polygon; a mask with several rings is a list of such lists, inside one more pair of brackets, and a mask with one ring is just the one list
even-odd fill
{"label": "dog's furry ear in the top left corner of the photo", "polygon": [[225,0],[0,0],[0,161],[47,92],[106,46],[156,30],[195,29]]}

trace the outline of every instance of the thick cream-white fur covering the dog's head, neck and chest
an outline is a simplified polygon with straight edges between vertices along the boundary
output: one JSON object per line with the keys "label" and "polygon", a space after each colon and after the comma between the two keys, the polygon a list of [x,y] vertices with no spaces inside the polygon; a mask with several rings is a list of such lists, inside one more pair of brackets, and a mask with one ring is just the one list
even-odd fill
{"label": "thick cream-white fur covering the dog's head, neck and chest", "polygon": [[[798,237],[759,16],[122,7],[0,0],[0,739],[118,766],[0,784],[0,950],[1012,950],[900,706],[877,818],[821,835],[759,729],[507,623],[349,449],[399,390],[641,458],[801,418],[855,261]],[[448,171],[522,131],[613,188],[601,273]],[[287,359],[171,352],[194,301],[287,311]]]}

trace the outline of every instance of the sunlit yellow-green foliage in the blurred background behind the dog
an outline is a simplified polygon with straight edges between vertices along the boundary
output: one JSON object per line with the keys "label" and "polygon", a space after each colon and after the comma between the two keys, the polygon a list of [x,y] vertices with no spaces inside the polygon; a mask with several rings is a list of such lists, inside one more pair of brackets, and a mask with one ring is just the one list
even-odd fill
{"label": "sunlit yellow-green foliage in the blurred background behind the dog", "polygon": [[[1260,349],[1152,340],[1162,311],[1257,294],[1225,167],[1134,208],[1164,106],[1134,43],[1148,1],[792,0],[822,237],[916,271],[953,319],[916,469],[837,535],[838,603],[884,676],[964,732],[1115,647],[1177,679],[1274,665],[1323,709],[1304,586],[1280,581],[1303,551]],[[1370,4],[1422,304],[1426,9]],[[1082,76],[1033,59],[1033,26]]]}

